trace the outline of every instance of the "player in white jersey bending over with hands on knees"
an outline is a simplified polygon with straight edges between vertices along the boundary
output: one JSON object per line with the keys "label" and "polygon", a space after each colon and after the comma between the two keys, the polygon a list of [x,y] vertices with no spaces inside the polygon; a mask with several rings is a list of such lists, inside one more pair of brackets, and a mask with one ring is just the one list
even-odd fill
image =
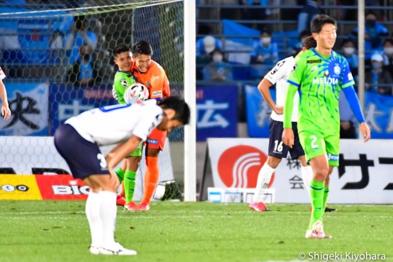
{"label": "player in white jersey bending over with hands on knees", "polygon": [[[90,187],[85,212],[90,227],[92,254],[136,255],[114,241],[116,190],[113,168],[157,128],[170,131],[188,124],[190,108],[178,97],[157,105],[155,99],[133,105],[94,108],[71,117],[55,133],[55,146],[74,178]],[[117,144],[106,157],[99,146]]]}

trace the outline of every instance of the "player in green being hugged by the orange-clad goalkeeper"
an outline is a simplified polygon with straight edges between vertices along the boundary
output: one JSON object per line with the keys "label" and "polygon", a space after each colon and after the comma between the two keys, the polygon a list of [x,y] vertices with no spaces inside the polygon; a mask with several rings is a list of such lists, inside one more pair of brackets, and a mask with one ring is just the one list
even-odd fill
{"label": "player in green being hugged by the orange-clad goalkeeper", "polygon": [[[120,44],[113,50],[114,63],[119,67],[119,70],[114,75],[113,97],[119,101],[120,104],[125,104],[124,92],[132,84],[137,83],[135,77],[130,73],[132,64],[130,47],[126,44]],[[143,144],[140,143],[137,150],[135,150],[129,157],[126,157],[122,163],[121,168],[116,170],[116,174],[120,183],[123,181],[123,193],[118,196],[116,203],[124,206],[125,204],[134,204],[135,210],[138,206],[132,201],[135,190],[135,178],[137,170],[142,157]],[[125,196],[126,200],[122,198]]]}

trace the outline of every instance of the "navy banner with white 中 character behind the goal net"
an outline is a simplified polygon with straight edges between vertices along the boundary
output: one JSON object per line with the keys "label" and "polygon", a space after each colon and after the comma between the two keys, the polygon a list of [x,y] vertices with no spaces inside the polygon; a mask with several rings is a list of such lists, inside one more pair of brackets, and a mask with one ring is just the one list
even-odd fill
{"label": "navy banner with white \u4e2d character behind the goal net", "polygon": [[49,101],[50,135],[72,116],[93,107],[117,103],[112,97],[112,86],[76,87],[63,84],[50,86]]}

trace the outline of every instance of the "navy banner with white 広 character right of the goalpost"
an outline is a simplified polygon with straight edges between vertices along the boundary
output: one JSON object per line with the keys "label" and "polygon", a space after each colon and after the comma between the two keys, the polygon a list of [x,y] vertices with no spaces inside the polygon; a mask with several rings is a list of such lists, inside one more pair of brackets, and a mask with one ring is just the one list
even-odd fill
{"label": "navy banner with white \u5e83 character right of the goalpost", "polygon": [[197,141],[237,136],[236,85],[197,86]]}

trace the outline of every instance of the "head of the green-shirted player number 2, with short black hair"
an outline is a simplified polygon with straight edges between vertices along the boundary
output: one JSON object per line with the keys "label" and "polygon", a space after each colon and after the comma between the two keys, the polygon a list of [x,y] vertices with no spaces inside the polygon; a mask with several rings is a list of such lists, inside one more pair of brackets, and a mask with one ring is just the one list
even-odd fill
{"label": "head of the green-shirted player number 2, with short black hair", "polygon": [[312,37],[316,40],[317,46],[322,49],[332,49],[337,38],[336,20],[328,15],[316,15],[311,21]]}

